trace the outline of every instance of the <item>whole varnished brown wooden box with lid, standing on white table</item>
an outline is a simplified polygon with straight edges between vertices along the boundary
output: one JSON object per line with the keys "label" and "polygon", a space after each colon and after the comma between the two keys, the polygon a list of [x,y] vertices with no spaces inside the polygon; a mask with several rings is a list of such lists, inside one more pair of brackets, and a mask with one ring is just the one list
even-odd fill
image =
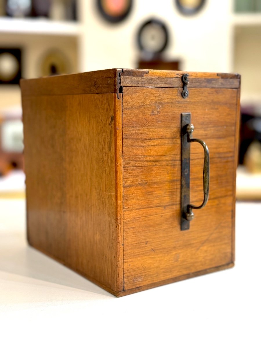
{"label": "whole varnished brown wooden box with lid, standing on white table", "polygon": [[[21,81],[29,243],[116,296],[234,264],[240,76],[185,74],[110,69]],[[210,164],[208,202],[186,229],[182,114]],[[200,205],[200,144],[189,159],[185,198]]]}

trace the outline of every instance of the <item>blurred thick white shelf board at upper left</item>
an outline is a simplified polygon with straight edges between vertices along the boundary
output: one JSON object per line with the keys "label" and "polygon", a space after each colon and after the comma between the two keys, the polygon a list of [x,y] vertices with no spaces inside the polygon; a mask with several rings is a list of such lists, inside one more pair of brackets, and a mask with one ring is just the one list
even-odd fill
{"label": "blurred thick white shelf board at upper left", "polygon": [[81,24],[44,18],[0,17],[0,33],[78,36],[81,33]]}

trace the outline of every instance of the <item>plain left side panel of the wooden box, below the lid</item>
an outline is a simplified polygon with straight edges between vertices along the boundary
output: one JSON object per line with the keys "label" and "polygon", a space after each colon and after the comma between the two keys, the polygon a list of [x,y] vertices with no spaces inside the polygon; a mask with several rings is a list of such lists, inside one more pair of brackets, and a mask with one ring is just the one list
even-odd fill
{"label": "plain left side panel of the wooden box, below the lid", "polygon": [[122,290],[115,161],[121,100],[116,94],[23,95],[22,102],[30,244]]}

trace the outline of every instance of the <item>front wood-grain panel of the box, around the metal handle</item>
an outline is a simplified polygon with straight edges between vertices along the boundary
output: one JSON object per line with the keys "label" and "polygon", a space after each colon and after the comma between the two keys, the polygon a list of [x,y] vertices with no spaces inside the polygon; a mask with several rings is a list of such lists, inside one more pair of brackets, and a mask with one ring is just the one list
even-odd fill
{"label": "front wood-grain panel of the box, around the metal handle", "polygon": [[[237,89],[124,87],[124,289],[234,260]],[[181,113],[210,154],[207,205],[181,231]],[[204,151],[191,144],[190,202],[203,201]]]}

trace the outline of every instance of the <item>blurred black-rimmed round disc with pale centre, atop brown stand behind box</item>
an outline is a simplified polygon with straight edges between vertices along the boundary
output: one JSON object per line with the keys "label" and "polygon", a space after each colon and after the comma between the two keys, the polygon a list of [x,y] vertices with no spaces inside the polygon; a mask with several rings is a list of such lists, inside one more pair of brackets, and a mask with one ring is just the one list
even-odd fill
{"label": "blurred black-rimmed round disc with pale centre, atop brown stand behind box", "polygon": [[140,50],[145,54],[156,55],[164,51],[168,44],[168,31],[158,19],[145,22],[138,33]]}

